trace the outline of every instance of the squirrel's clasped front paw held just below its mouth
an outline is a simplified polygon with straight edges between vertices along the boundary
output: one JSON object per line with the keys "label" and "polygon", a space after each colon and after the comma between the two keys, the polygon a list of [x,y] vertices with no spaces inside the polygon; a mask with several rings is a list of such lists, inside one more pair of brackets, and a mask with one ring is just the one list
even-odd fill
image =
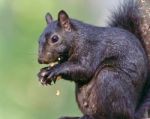
{"label": "squirrel's clasped front paw held just below its mouth", "polygon": [[55,83],[57,79],[55,71],[49,67],[42,68],[38,73],[38,77],[42,85],[51,85],[52,81]]}

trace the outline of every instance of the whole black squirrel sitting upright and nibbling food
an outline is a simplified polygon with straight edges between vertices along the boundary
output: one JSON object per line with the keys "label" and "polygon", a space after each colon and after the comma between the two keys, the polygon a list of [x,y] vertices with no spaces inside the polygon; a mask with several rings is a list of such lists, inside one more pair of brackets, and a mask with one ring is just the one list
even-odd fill
{"label": "whole black squirrel sitting upright and nibbling food", "polygon": [[[61,10],[58,20],[47,13],[39,40],[42,84],[58,76],[74,81],[83,117],[60,119],[142,119],[150,107],[149,60],[141,31],[138,2],[127,0],[108,27],[71,19]],[[59,60],[58,60],[59,59]]]}

